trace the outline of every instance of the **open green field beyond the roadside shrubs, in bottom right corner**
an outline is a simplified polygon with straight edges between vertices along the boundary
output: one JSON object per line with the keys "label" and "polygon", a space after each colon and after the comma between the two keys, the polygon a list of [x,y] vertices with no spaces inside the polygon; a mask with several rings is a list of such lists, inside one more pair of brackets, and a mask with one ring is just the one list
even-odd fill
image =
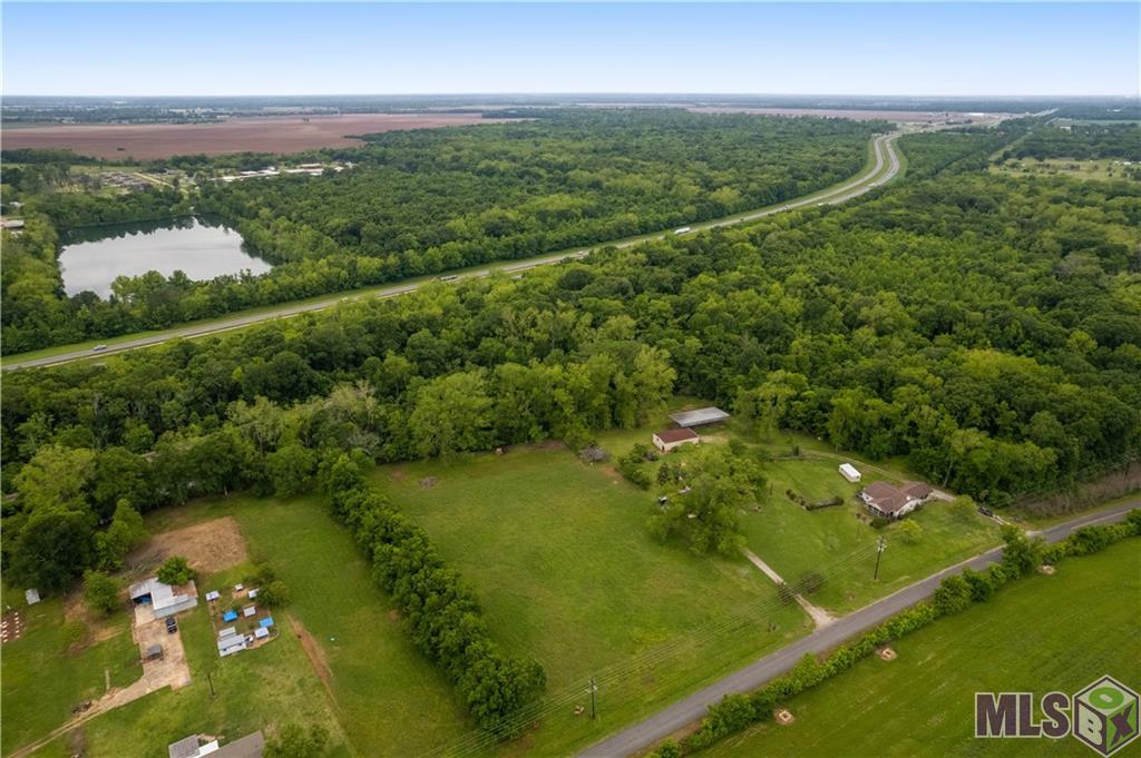
{"label": "open green field beyond the roadside shrubs, in bottom right corner", "polygon": [[[764,724],[702,756],[1091,756],[1071,736],[974,740],[976,692],[1073,694],[1110,675],[1141,685],[1141,540],[1069,559],[784,703],[795,722]],[[1136,755],[1131,745],[1119,755]]]}

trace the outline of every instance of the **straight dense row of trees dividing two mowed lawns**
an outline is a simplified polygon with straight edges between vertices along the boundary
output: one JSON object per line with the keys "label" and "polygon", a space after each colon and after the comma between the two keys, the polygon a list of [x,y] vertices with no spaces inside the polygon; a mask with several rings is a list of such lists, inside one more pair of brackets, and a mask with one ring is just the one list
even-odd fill
{"label": "straight dense row of trees dividing two mowed lawns", "polygon": [[517,735],[526,726],[518,715],[547,685],[542,666],[500,651],[475,593],[422,529],[366,486],[353,458],[325,462],[321,480],[334,515],[372,559],[373,580],[391,594],[416,647],[444,670],[482,728],[501,739]]}

